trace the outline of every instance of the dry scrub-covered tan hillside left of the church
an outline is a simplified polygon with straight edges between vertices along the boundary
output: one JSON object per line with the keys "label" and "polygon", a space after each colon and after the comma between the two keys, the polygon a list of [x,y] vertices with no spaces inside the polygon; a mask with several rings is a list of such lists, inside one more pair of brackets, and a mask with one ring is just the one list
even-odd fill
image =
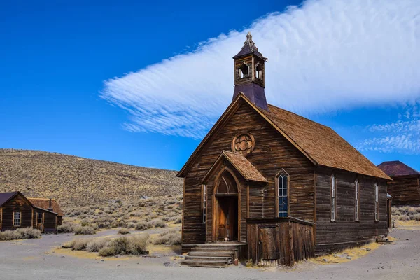
{"label": "dry scrub-covered tan hillside left of the church", "polygon": [[176,172],[90,160],[73,155],[0,149],[0,193],[53,197],[66,207],[181,195]]}

